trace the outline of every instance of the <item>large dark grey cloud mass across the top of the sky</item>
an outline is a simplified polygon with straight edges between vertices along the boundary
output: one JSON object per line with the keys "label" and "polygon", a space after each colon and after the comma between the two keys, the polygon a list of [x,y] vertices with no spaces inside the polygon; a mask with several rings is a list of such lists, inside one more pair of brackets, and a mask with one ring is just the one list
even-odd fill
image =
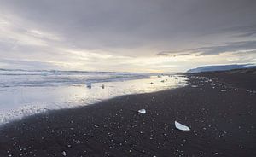
{"label": "large dark grey cloud mass across the top of the sky", "polygon": [[252,0],[24,0],[1,6],[3,13],[20,15],[84,49],[175,47],[229,26],[256,24]]}

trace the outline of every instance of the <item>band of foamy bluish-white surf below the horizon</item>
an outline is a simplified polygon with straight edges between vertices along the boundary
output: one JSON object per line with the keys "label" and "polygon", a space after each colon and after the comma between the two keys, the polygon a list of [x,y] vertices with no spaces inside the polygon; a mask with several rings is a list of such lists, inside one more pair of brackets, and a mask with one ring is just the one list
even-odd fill
{"label": "band of foamy bluish-white surf below the horizon", "polygon": [[0,88],[113,82],[148,78],[149,76],[148,73],[0,69]]}

